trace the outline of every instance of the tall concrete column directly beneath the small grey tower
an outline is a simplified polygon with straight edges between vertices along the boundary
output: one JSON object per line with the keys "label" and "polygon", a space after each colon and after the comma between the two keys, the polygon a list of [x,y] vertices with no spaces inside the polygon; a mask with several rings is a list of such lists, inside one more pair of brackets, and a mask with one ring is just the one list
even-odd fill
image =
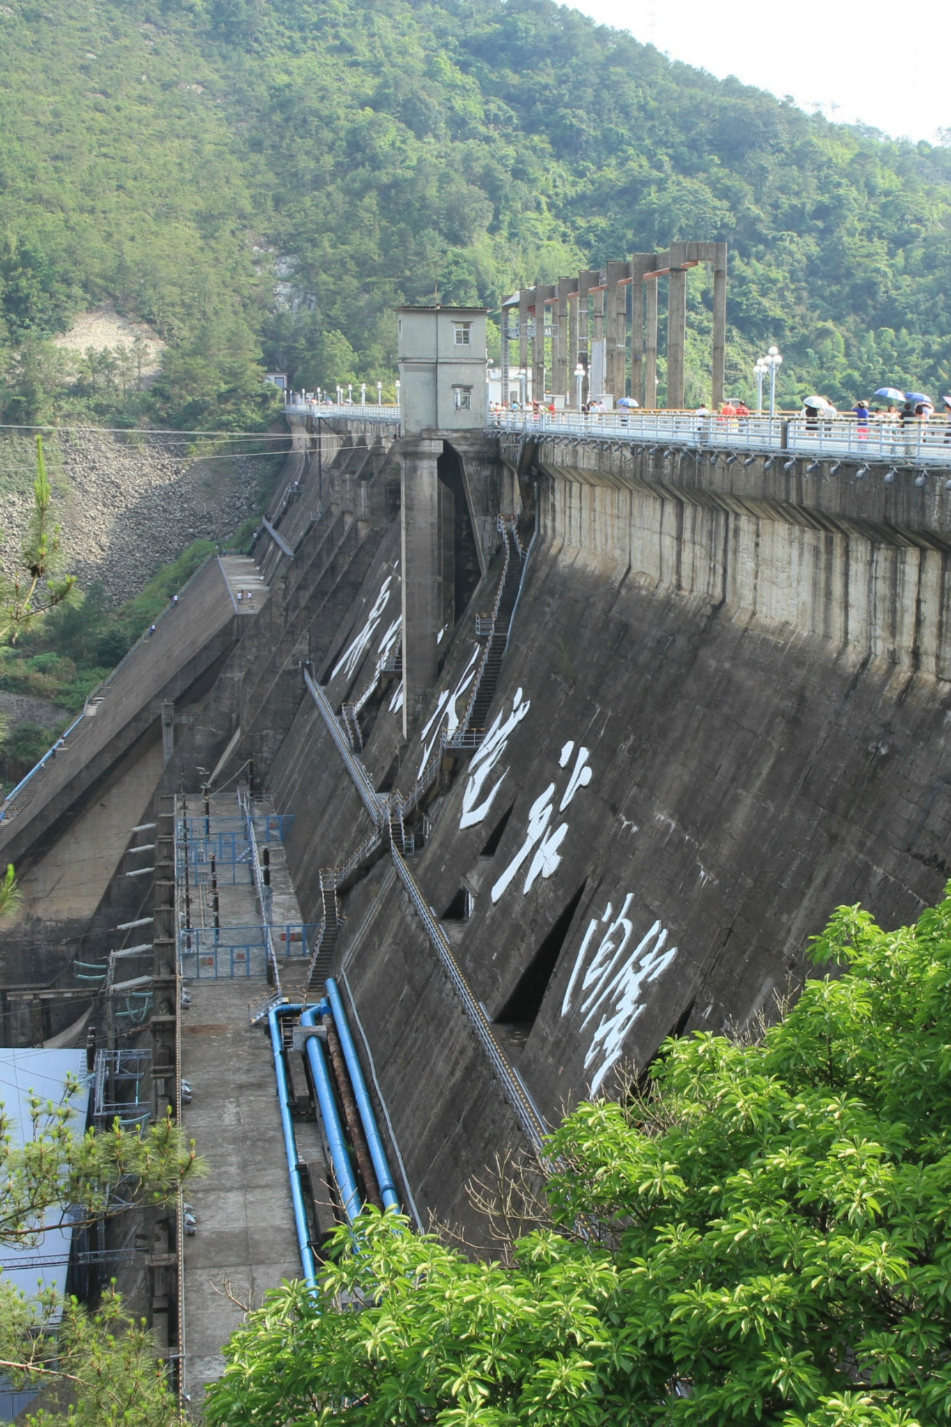
{"label": "tall concrete column directly beneath the small grey tower", "polygon": [[436,684],[442,628],[439,478],[442,441],[409,437],[402,461],[403,738],[419,723]]}

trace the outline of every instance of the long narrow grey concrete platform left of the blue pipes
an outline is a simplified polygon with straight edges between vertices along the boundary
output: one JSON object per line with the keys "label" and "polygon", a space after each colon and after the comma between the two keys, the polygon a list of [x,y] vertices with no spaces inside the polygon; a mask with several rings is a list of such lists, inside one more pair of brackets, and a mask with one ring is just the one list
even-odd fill
{"label": "long narrow grey concrete platform left of the blue pipes", "polygon": [[[234,791],[212,796],[211,835],[232,832],[238,812]],[[267,815],[274,808],[259,802],[257,812]],[[201,828],[200,796],[188,798],[188,815]],[[299,922],[284,846],[275,839],[268,848],[272,920]],[[228,942],[228,928],[261,925],[254,886],[247,880],[230,883],[227,872],[222,862],[218,888],[222,943]],[[211,898],[208,883],[192,885],[192,926],[214,926]],[[184,908],[181,879],[178,906]],[[282,980],[288,962],[298,977],[305,975],[307,958],[281,959]],[[264,952],[259,963],[264,970]],[[222,958],[221,966],[227,965]],[[192,1413],[198,1414],[205,1384],[224,1368],[222,1347],[241,1324],[241,1304],[259,1307],[268,1289],[278,1287],[282,1279],[299,1279],[301,1259],[271,1042],[267,1027],[248,1025],[248,1003],[267,993],[267,982],[262,975],[191,976],[187,990],[191,1006],[181,1010],[181,1076],[192,1087],[192,1100],[183,1106],[183,1124],[211,1170],[207,1179],[190,1186],[197,1227],[194,1236],[185,1237],[183,1256],[184,1384]],[[287,995],[288,989],[284,990]],[[321,1160],[317,1122],[298,1120],[295,1133],[299,1157]]]}

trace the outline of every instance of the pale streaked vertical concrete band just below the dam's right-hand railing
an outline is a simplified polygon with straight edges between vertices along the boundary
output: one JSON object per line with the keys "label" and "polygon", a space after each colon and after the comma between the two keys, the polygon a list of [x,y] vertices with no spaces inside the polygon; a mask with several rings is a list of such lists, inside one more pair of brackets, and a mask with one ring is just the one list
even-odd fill
{"label": "pale streaked vertical concrete band just below the dam's right-hand railing", "polygon": [[[595,565],[603,559],[629,569],[659,595],[723,605],[730,618],[757,628],[820,635],[858,658],[951,678],[951,585],[938,524],[951,531],[951,521],[927,509],[927,495],[910,478],[904,509],[887,519],[881,492],[854,477],[850,489],[848,472],[838,485],[851,499],[830,509],[821,475],[797,499],[778,498],[763,489],[761,472],[759,481],[756,472],[747,477],[750,489],[737,491],[726,472],[696,481],[690,471],[689,482],[680,481],[656,458],[615,455],[602,469],[563,465],[555,442],[549,464],[548,445],[540,452],[549,475],[542,531]],[[948,504],[944,492],[935,504]]]}

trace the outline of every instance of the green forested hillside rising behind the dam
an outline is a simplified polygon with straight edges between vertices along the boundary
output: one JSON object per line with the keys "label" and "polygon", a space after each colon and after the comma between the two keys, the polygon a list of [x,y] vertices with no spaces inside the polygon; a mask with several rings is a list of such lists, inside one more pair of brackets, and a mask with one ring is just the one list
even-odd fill
{"label": "green forested hillside rising behind the dam", "polygon": [[[389,384],[398,301],[492,307],[676,237],[731,245],[734,384],[770,341],[788,400],[951,381],[951,150],[548,0],[9,0],[0,131],[7,421],[250,422],[259,362]],[[63,384],[47,340],[104,300],[171,344],[151,391]]]}

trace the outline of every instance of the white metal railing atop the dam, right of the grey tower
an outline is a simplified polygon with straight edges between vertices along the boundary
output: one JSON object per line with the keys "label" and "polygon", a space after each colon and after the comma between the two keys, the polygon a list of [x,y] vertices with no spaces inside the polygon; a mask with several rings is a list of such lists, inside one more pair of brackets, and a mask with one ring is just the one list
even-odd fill
{"label": "white metal railing atop the dam, right of the grey tower", "polygon": [[[489,424],[526,437],[572,437],[587,441],[637,444],[670,451],[709,451],[727,462],[746,454],[767,462],[854,461],[861,467],[951,467],[951,421],[874,421],[854,417],[828,420],[777,415],[727,417],[696,411],[496,411]],[[860,474],[860,472],[857,472]],[[863,472],[864,474],[864,472]]]}

